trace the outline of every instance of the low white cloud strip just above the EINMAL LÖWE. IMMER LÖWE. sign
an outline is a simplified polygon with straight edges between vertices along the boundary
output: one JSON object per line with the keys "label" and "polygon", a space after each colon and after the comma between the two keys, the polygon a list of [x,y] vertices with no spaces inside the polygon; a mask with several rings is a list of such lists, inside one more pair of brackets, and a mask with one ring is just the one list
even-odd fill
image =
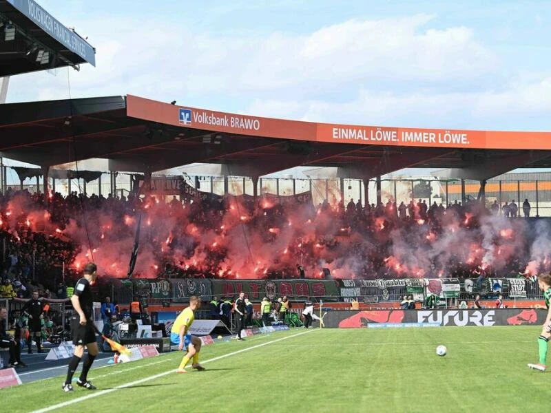
{"label": "low white cloud strip just above the EINMAL L\u00d6WE. IMMER L\u00d6WE. sign", "polygon": [[551,78],[510,85],[499,92],[406,94],[362,89],[344,103],[328,100],[256,100],[246,112],[259,116],[316,122],[408,127],[519,129],[526,118],[538,120],[522,129],[551,127]]}

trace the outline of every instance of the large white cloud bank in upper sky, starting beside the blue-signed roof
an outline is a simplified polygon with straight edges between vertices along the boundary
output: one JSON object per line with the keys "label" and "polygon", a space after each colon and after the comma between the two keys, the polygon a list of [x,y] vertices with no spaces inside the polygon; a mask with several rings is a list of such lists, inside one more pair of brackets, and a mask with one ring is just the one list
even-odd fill
{"label": "large white cloud bank in upper sky, starting beside the blue-signed roof", "polygon": [[[351,20],[311,34],[214,37],[159,21],[87,22],[97,67],[72,74],[72,95],[315,96],[379,82],[461,82],[495,70],[497,57],[464,27],[426,28],[435,17]],[[145,30],[145,28],[150,28]],[[30,76],[33,88],[30,89]],[[17,76],[8,98],[59,98],[67,76]],[[249,101],[250,101],[249,100]]]}

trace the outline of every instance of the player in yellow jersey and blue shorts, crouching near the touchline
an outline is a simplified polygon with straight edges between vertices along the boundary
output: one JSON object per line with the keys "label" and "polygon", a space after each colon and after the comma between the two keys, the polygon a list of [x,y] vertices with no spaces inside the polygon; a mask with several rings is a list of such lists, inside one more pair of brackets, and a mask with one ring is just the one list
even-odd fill
{"label": "player in yellow jersey and blue shorts, crouching near the touchline", "polygon": [[171,343],[178,344],[178,350],[185,351],[184,357],[178,370],[178,373],[185,373],[185,366],[190,359],[193,358],[193,364],[191,367],[196,370],[205,370],[199,364],[199,352],[201,350],[202,341],[199,337],[192,336],[189,334],[189,328],[195,320],[195,310],[200,308],[201,301],[195,295],[189,298],[189,307],[185,308],[172,325],[170,331],[170,341]]}

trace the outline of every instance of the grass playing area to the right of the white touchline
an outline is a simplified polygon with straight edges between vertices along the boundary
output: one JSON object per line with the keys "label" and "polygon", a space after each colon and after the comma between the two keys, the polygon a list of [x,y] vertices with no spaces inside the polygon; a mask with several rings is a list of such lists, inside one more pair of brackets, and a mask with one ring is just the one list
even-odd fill
{"label": "grass playing area to the right of the white touchline", "polygon": [[[143,412],[180,405],[219,412],[517,412],[545,403],[537,383],[548,381],[546,375],[526,368],[536,357],[538,333],[510,327],[322,330],[296,337],[296,347],[275,343],[216,361],[208,372],[167,375],[152,388],[108,394],[102,403],[141,399]],[[438,344],[448,346],[448,356],[436,356]]]}

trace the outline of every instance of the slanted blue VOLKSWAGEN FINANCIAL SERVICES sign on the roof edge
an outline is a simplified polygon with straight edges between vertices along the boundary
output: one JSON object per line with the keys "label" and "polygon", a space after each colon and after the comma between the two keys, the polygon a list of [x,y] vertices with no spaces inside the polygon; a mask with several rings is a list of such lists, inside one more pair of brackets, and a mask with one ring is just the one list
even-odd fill
{"label": "slanted blue VOLKSWAGEN FINANCIAL SERVICES sign on the roof edge", "polygon": [[59,41],[62,45],[74,54],[78,54],[81,58],[92,66],[96,65],[96,50],[92,45],[88,44],[84,39],[61,24],[52,17],[52,14],[44,10],[34,0],[8,0],[14,8],[17,8],[21,13],[25,14],[34,24],[39,26],[44,32],[48,33],[52,38]]}

